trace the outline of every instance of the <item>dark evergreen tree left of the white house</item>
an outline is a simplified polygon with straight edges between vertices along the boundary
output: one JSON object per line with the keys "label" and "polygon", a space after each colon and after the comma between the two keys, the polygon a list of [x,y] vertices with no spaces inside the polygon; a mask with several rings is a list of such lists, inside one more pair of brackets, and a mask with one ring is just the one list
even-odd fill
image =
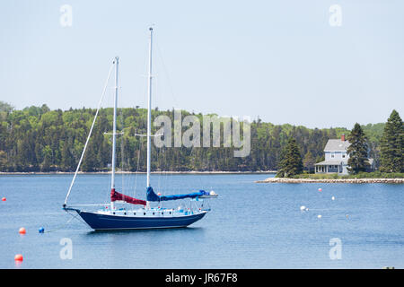
{"label": "dark evergreen tree left of the white house", "polygon": [[288,178],[303,172],[302,156],[300,155],[299,147],[294,137],[289,138],[285,151],[282,153],[282,160],[280,161],[280,169],[277,173],[277,177]]}

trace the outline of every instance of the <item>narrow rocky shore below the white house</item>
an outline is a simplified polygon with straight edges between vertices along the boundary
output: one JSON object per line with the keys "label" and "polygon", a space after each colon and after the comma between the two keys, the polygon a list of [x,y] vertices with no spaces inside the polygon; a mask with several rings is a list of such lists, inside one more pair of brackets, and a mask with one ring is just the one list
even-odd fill
{"label": "narrow rocky shore below the white house", "polygon": [[267,178],[257,183],[404,183],[404,178]]}

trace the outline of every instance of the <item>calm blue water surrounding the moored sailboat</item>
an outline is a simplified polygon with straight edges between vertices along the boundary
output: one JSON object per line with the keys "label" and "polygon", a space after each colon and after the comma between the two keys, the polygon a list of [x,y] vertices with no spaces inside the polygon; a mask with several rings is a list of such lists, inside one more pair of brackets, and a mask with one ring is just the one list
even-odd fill
{"label": "calm blue water surrounding the moored sailboat", "polygon": [[[213,211],[186,229],[94,232],[77,220],[63,226],[71,218],[61,209],[71,178],[0,176],[0,197],[7,198],[0,202],[0,268],[404,267],[402,185],[256,184],[268,175],[156,175],[154,189],[163,194],[213,188],[220,195],[210,200]],[[122,182],[128,195],[136,190],[145,198],[144,175],[118,176],[118,185]],[[69,203],[107,202],[109,185],[108,175],[80,175]],[[309,211],[302,213],[301,205]],[[51,232],[40,234],[41,226]],[[59,257],[63,238],[72,240],[72,259]],[[341,259],[329,258],[332,238],[342,242]],[[15,265],[15,254],[23,255],[22,265]]]}

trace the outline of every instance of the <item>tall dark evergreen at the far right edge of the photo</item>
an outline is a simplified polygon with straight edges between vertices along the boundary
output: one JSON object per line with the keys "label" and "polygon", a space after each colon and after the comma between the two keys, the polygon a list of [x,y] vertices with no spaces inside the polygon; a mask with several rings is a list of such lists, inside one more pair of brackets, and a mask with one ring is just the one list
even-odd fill
{"label": "tall dark evergreen at the far right edge of the photo", "polygon": [[383,172],[404,172],[404,126],[395,109],[384,126],[380,161]]}

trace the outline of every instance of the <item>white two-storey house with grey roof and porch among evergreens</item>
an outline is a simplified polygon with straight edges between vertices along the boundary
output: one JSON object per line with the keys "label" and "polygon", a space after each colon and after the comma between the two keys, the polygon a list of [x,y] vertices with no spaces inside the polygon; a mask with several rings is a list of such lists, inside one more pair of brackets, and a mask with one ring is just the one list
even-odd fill
{"label": "white two-storey house with grey roof and porch among evergreens", "polygon": [[[347,147],[349,145],[351,145],[351,143],[346,140],[344,134],[341,135],[340,139],[329,140],[324,148],[325,161],[315,164],[315,172],[346,175],[348,173],[347,161],[349,155],[347,154]],[[374,170],[373,159],[369,159],[368,161],[371,165],[370,170]]]}

